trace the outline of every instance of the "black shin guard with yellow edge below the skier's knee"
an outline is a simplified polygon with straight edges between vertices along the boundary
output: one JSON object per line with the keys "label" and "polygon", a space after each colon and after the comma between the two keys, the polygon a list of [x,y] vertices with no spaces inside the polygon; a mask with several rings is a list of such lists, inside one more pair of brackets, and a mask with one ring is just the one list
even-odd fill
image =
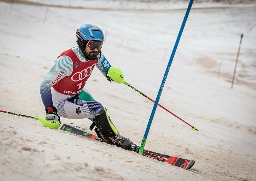
{"label": "black shin guard with yellow edge below the skier's knee", "polygon": [[107,115],[107,109],[95,115],[95,125],[104,137],[115,137],[118,130]]}

